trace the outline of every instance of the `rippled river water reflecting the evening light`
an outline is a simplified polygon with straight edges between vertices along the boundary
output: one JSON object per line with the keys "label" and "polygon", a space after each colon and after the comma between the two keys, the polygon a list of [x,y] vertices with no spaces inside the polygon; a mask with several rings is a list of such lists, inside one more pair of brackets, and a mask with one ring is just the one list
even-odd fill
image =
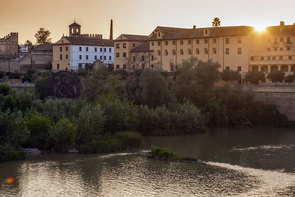
{"label": "rippled river water reflecting the evening light", "polygon": [[[206,164],[148,160],[151,145]],[[15,182],[4,180],[14,177]],[[145,137],[112,154],[50,154],[0,163],[0,197],[294,197],[295,131],[211,129]]]}

